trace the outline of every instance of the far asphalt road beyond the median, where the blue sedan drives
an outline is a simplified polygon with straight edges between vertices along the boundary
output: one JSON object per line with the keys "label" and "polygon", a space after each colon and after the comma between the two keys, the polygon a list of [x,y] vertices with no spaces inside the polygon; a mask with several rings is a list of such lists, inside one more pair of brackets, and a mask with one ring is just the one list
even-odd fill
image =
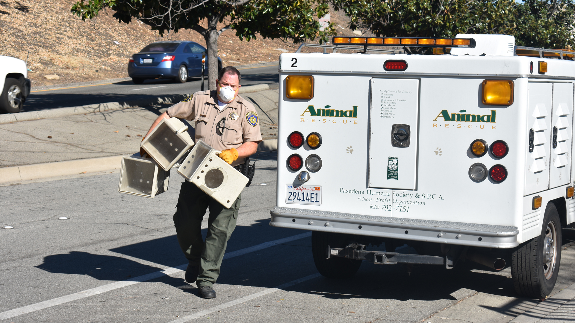
{"label": "far asphalt road beyond the median, where the blue sedan drives", "polygon": [[[240,68],[241,84],[277,84],[278,66]],[[208,89],[208,80],[205,80]],[[94,103],[132,101],[156,97],[162,94],[183,94],[200,91],[201,79],[193,78],[186,83],[173,80],[145,80],[144,84],[134,84],[131,80],[113,84],[75,86],[67,89],[32,89],[22,111],[55,109],[58,107],[82,106]]]}

